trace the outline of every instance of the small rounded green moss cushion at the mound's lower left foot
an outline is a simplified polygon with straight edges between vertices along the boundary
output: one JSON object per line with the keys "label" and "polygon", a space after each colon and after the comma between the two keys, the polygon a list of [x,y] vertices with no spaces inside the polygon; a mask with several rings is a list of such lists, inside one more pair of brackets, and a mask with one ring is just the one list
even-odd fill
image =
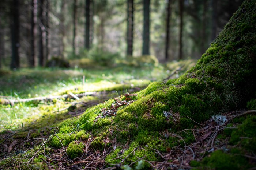
{"label": "small rounded green moss cushion at the mound's lower left foot", "polygon": [[67,147],[67,154],[68,157],[70,159],[75,159],[76,157],[78,157],[80,154],[83,153],[83,148],[84,148],[84,144],[82,142],[77,143],[75,141],[72,141],[71,143],[69,143],[68,147]]}

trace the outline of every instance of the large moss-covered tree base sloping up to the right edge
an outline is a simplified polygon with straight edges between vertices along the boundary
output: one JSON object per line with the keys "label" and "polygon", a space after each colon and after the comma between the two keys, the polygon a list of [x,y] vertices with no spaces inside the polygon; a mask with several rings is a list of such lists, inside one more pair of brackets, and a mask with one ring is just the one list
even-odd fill
{"label": "large moss-covered tree base sloping up to the right edge", "polygon": [[[147,161],[144,168],[152,167],[175,146],[195,142],[192,131],[184,129],[196,128],[212,115],[245,108],[256,94],[255,4],[256,0],[244,1],[196,66],[183,76],[150,84],[125,106],[117,107],[120,101],[131,100],[128,94],[63,122],[52,147],[67,147],[75,139],[90,136],[84,144],[103,153],[106,166],[136,168],[143,159]],[[77,135],[79,131],[84,134]]]}

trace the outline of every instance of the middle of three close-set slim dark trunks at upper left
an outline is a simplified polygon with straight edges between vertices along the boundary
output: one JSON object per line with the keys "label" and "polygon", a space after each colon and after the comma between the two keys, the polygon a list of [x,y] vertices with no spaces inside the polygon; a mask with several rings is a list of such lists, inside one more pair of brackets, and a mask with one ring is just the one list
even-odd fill
{"label": "middle of three close-set slim dark trunks at upper left", "polygon": [[43,44],[43,31],[44,31],[44,22],[43,22],[43,5],[44,0],[39,0],[38,3],[38,56],[39,56],[39,66],[44,66],[44,44]]}

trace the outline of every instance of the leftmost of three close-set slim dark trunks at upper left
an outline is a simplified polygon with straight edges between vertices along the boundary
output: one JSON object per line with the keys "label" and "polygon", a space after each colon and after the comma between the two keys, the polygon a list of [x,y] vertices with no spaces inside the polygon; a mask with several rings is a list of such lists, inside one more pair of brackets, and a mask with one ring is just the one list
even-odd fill
{"label": "leftmost of three close-set slim dark trunks at upper left", "polygon": [[34,41],[34,29],[35,29],[35,22],[34,22],[34,14],[35,14],[35,0],[31,0],[31,21],[30,21],[30,48],[31,48],[31,54],[29,59],[29,66],[34,67],[35,66],[35,41]]}

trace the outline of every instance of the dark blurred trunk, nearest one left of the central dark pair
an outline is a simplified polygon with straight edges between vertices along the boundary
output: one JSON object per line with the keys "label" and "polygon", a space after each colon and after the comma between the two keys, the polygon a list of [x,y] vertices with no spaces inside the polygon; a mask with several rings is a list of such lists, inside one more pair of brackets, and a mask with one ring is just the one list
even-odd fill
{"label": "dark blurred trunk, nearest one left of the central dark pair", "polygon": [[84,37],[84,48],[90,49],[90,0],[86,0],[85,4],[85,37]]}

